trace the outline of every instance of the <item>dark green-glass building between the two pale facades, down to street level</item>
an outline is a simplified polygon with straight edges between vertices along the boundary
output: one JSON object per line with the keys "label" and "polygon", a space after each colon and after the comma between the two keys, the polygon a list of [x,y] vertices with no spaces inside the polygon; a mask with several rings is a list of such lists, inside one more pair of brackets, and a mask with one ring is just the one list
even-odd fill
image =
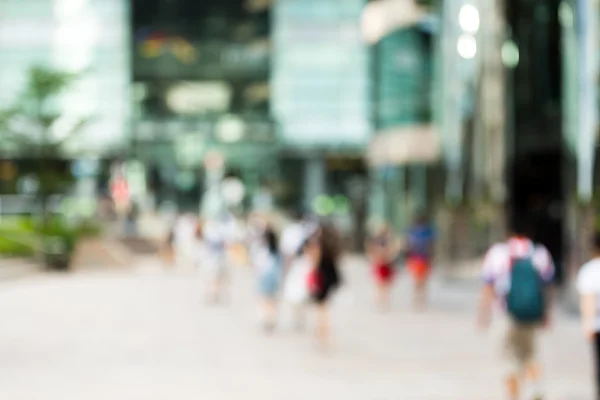
{"label": "dark green-glass building between the two pale facades, down to street level", "polygon": [[196,207],[208,152],[219,152],[250,191],[277,170],[268,6],[134,1],[132,144],[159,197],[178,193],[180,204]]}

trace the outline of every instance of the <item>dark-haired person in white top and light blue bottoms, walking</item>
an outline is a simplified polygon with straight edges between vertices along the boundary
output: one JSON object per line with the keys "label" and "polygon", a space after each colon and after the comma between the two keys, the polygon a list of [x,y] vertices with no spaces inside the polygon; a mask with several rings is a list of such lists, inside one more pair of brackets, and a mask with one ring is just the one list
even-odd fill
{"label": "dark-haired person in white top and light blue bottoms, walking", "polygon": [[253,265],[258,274],[258,291],[261,302],[263,328],[271,332],[277,318],[277,294],[282,278],[282,262],[277,236],[267,226],[251,250]]}

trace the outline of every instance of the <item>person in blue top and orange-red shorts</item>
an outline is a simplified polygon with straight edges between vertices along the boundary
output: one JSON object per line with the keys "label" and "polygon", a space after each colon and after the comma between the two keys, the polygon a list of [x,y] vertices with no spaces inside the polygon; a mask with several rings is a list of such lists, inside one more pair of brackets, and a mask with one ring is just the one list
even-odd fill
{"label": "person in blue top and orange-red shorts", "polygon": [[427,305],[427,283],[435,247],[435,234],[427,217],[419,215],[408,229],[405,252],[406,267],[414,282],[413,304],[415,309]]}

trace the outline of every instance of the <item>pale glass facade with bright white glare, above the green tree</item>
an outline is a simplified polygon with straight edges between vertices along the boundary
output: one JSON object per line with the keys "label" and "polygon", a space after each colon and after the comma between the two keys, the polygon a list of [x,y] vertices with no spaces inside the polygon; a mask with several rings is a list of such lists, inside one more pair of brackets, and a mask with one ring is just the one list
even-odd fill
{"label": "pale glass facade with bright white glare, above the green tree", "polygon": [[34,65],[79,73],[59,99],[55,134],[92,118],[71,150],[103,153],[122,145],[130,104],[128,8],[127,0],[0,2],[0,107],[14,103]]}

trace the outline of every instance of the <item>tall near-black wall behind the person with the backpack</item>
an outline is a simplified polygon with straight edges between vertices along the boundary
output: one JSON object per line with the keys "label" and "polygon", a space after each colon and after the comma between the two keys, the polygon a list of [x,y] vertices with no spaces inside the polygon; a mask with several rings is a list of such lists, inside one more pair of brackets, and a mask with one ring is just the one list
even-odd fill
{"label": "tall near-black wall behind the person with the backpack", "polygon": [[561,123],[561,53],[558,0],[509,0],[507,22],[520,49],[509,71],[513,107],[509,163],[510,216],[526,220],[532,236],[552,253],[563,278],[565,207]]}

